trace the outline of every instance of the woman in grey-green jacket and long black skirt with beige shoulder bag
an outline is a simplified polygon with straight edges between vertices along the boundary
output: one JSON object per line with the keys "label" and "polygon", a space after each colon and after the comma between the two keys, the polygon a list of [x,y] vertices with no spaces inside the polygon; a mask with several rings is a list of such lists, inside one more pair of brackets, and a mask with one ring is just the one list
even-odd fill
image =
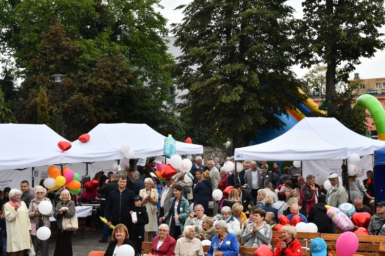
{"label": "woman in grey-green jacket and long black skirt with beige shoulder bag", "polygon": [[73,231],[63,230],[63,219],[72,218],[76,214],[75,203],[71,201],[71,195],[64,189],[60,194],[62,202],[56,205],[53,216],[56,219],[56,246],[53,256],[72,256]]}

